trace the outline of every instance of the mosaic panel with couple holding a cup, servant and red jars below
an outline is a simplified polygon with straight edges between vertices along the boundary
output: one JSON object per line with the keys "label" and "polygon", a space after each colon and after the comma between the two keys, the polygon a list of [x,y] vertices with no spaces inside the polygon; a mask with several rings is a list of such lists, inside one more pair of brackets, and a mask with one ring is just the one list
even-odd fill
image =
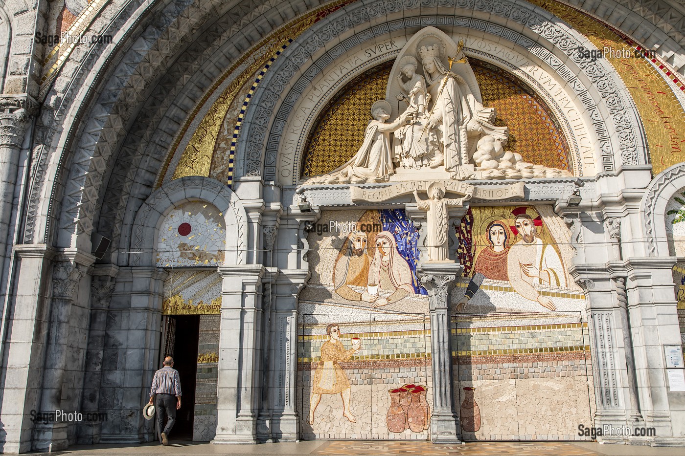
{"label": "mosaic panel with couple holding a cup, servant and red jars below", "polygon": [[403,211],[327,212],[299,299],[303,438],[428,438],[432,404],[419,233]]}

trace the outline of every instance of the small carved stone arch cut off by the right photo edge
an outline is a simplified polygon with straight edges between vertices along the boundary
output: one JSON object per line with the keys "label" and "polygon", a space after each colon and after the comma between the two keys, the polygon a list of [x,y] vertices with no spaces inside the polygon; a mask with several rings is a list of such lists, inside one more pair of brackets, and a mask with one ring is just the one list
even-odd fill
{"label": "small carved stone arch cut off by the right photo edge", "polygon": [[645,254],[669,257],[669,240],[666,229],[666,206],[674,194],[685,188],[685,164],[677,164],[654,177],[640,202],[643,217],[643,236],[647,240]]}

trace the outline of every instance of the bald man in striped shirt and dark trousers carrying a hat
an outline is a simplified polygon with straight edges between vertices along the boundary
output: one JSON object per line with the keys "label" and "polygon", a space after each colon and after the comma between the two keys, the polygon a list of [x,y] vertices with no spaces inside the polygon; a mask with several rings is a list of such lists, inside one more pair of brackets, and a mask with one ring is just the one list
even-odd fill
{"label": "bald man in striped shirt and dark trousers carrying a hat", "polygon": [[[160,443],[168,445],[169,433],[176,421],[176,410],[181,408],[181,382],[178,371],[173,369],[173,358],[171,356],[164,358],[164,367],[155,372],[150,388],[150,403],[153,403],[155,394],[157,394],[157,401],[154,402],[155,414],[157,414],[157,432],[160,435]],[[164,414],[168,420],[166,427],[162,430]]]}

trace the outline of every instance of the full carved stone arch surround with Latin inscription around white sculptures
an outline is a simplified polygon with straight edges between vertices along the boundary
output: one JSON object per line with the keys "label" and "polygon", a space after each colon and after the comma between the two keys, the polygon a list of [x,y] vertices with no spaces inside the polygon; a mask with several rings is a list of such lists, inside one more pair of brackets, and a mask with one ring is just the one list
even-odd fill
{"label": "full carved stone arch surround with Latin inscription around white sculptures", "polygon": [[[242,164],[236,179],[260,175],[265,181],[294,185],[299,149],[306,142],[301,127],[308,113],[335,93],[327,88],[340,86],[342,79],[355,77],[369,64],[395,58],[411,36],[428,25],[453,39],[466,37],[467,56],[491,56],[503,68],[513,64],[512,69],[539,83],[532,86],[548,85],[538,93],[558,94],[558,104],[575,112],[571,130],[589,132],[579,147],[594,171],[583,175],[647,161],[643,127],[634,102],[625,97],[623,81],[608,64],[580,58],[578,47],[595,49],[593,44],[545,10],[505,2],[484,21],[459,5],[443,8],[439,2],[426,2],[415,11],[411,5],[386,2],[381,8],[371,3],[352,3],[314,24],[270,68],[245,116],[249,121],[236,151],[236,162]],[[476,41],[485,42],[486,49],[479,49]],[[312,92],[312,87],[319,91]]]}

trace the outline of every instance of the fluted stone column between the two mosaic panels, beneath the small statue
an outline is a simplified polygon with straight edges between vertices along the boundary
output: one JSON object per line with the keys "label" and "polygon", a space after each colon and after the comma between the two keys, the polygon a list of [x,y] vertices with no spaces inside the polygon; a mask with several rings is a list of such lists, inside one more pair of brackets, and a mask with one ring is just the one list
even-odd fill
{"label": "fluted stone column between the two mosaic panels, beneath the small statue", "polygon": [[433,367],[431,440],[437,444],[460,443],[459,418],[454,411],[449,307],[451,289],[462,269],[450,262],[425,262],[416,269],[428,290]]}

